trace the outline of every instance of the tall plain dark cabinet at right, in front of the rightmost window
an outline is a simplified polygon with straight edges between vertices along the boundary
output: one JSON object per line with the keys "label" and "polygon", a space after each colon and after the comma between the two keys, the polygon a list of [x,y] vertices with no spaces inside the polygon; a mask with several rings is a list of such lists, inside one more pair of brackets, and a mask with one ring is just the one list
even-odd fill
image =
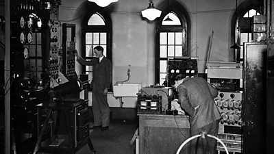
{"label": "tall plain dark cabinet at right, in front of the rightmost window", "polygon": [[266,153],[266,43],[244,43],[243,151]]}

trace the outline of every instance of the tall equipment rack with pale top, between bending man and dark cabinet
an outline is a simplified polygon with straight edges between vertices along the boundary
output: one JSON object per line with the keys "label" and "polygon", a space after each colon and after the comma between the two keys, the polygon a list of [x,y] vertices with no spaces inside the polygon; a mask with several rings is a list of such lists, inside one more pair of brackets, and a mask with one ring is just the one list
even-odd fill
{"label": "tall equipment rack with pale top, between bending man and dark cabinet", "polygon": [[[242,64],[209,65],[208,82],[219,89],[214,99],[222,116],[217,138],[229,153],[242,153]],[[221,142],[217,142],[217,151],[225,153]]]}

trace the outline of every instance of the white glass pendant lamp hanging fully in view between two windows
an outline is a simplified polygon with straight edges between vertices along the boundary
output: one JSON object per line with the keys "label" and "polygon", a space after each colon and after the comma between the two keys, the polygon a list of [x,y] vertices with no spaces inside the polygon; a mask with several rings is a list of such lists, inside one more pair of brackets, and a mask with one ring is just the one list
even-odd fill
{"label": "white glass pendant lamp hanging fully in view between two windows", "polygon": [[143,10],[142,17],[149,19],[149,21],[153,21],[155,18],[161,16],[162,11],[155,9],[153,2],[149,3],[149,7],[146,10]]}

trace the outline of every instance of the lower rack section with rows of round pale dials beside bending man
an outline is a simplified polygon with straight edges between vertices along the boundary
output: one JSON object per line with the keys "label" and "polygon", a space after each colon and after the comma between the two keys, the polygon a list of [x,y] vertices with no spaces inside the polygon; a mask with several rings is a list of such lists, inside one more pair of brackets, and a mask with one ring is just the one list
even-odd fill
{"label": "lower rack section with rows of round pale dials beside bending man", "polygon": [[[219,123],[218,138],[221,139],[229,152],[242,151],[242,93],[219,92],[214,99],[222,119]],[[217,149],[225,151],[220,142]]]}

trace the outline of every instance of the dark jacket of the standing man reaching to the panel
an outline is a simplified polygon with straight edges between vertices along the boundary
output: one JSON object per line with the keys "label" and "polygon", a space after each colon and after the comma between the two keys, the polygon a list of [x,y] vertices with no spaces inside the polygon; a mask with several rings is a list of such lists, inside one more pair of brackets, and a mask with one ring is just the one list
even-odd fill
{"label": "dark jacket of the standing man reaching to the panel", "polygon": [[92,81],[90,86],[96,88],[95,90],[104,90],[110,87],[112,81],[112,64],[108,58],[103,57],[101,62],[99,59],[84,60],[79,57],[77,60],[80,64],[92,67]]}

